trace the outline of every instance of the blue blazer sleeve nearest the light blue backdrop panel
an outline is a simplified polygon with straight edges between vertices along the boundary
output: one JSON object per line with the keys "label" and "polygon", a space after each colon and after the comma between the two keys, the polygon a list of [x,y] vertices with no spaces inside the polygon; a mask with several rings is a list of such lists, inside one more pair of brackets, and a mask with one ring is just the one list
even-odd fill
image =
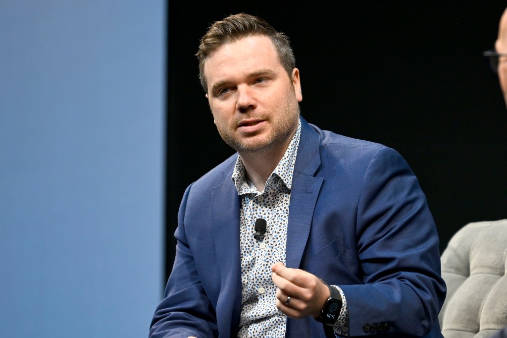
{"label": "blue blazer sleeve nearest the light blue backdrop panel", "polygon": [[185,232],[185,213],[191,186],[185,191],[178,212],[176,255],[164,298],[150,326],[150,338],[205,336],[218,332],[215,311],[202,287]]}

